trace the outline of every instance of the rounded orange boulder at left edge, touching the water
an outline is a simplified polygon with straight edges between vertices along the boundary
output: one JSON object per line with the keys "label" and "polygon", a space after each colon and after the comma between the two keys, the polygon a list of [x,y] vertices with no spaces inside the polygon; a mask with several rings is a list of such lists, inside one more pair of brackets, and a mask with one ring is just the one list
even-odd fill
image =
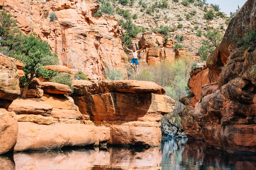
{"label": "rounded orange boulder at left edge, touching the water", "polygon": [[18,138],[18,122],[14,112],[0,108],[0,155],[12,152]]}

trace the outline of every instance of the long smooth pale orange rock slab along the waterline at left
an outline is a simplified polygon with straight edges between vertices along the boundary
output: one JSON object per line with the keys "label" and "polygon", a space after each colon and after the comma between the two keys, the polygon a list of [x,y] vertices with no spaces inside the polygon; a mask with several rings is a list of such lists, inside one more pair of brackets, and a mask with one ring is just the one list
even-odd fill
{"label": "long smooth pale orange rock slab along the waterline at left", "polygon": [[106,144],[109,128],[85,124],[42,125],[18,122],[19,134],[14,152],[86,147]]}

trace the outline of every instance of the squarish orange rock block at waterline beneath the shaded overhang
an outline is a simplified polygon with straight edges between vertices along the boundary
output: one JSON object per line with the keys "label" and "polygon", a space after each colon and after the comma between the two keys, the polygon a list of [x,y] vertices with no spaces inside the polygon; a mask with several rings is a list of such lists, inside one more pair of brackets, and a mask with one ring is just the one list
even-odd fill
{"label": "squarish orange rock block at waterline beneath the shaded overhang", "polygon": [[110,126],[109,145],[160,146],[162,132],[159,127]]}

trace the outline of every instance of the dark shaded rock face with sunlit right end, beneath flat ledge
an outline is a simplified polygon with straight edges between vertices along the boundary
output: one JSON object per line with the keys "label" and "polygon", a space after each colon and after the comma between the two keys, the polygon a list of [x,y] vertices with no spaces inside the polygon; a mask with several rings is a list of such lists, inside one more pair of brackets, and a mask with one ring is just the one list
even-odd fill
{"label": "dark shaded rock face with sunlit right end, beneath flat ledge", "polygon": [[75,102],[83,114],[98,122],[136,121],[138,115],[148,113],[166,114],[174,110],[174,101],[165,95],[105,93],[75,97]]}

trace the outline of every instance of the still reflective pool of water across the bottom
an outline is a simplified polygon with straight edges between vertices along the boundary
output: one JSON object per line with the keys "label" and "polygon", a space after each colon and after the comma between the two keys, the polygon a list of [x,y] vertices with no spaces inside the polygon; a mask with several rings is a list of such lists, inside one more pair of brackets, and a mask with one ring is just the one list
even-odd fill
{"label": "still reflective pool of water across the bottom", "polygon": [[202,141],[162,139],[160,147],[92,147],[0,156],[4,170],[256,170],[256,155],[230,154]]}

